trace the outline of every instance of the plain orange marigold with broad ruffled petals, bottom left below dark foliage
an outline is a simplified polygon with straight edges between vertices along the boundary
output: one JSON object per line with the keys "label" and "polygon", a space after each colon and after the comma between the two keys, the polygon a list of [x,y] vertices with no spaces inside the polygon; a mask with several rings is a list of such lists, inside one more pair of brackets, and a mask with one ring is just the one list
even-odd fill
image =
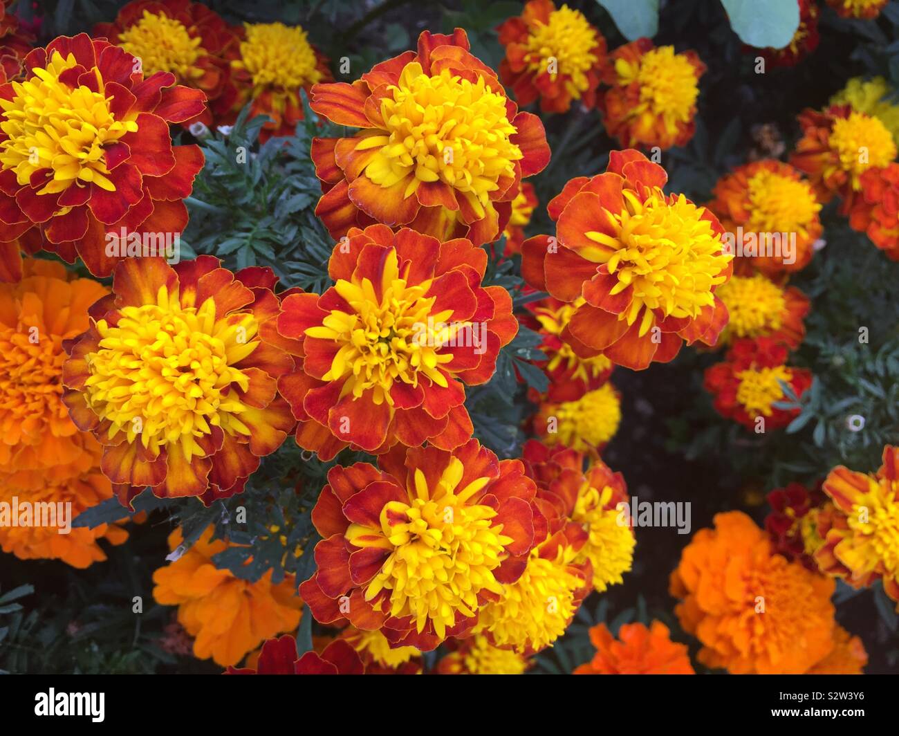
{"label": "plain orange marigold with broad ruffled petals, bottom left below dark foliage", "polygon": [[[178,623],[195,637],[195,657],[227,667],[266,639],[296,629],[303,602],[291,575],[275,584],[269,570],[249,582],[218,569],[212,558],[231,545],[213,540],[212,533],[210,526],[190,549],[153,573],[153,597],[163,606],[178,606]],[[173,552],[182,542],[180,528],[169,534]]]}

